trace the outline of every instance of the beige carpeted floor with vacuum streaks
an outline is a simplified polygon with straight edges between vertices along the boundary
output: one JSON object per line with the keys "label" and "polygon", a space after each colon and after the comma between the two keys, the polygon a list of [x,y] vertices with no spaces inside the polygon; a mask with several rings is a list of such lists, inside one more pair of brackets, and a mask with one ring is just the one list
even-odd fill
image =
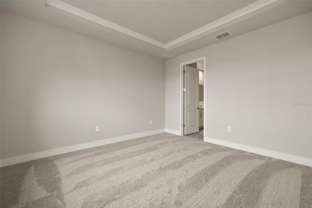
{"label": "beige carpeted floor with vacuum streaks", "polygon": [[161,133],[0,168],[1,208],[312,208],[312,167]]}

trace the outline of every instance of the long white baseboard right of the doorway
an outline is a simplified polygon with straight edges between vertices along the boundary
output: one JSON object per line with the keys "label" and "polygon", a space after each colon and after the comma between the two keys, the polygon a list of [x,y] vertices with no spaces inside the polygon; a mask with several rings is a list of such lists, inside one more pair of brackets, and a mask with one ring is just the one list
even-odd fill
{"label": "long white baseboard right of the doorway", "polygon": [[227,142],[227,141],[223,141],[223,140],[218,140],[218,139],[213,139],[213,138],[209,138],[209,137],[205,137],[204,141],[209,142],[209,143],[213,143],[216,145],[227,146],[227,147],[231,147],[234,149],[243,150],[246,152],[252,152],[255,154],[259,154],[259,155],[273,157],[273,158],[277,158],[280,160],[289,161],[292,163],[298,163],[298,164],[305,165],[305,166],[312,166],[312,159],[311,158],[300,157],[300,156],[291,155],[291,154],[282,153],[282,152],[277,152],[277,151],[273,151],[273,150],[262,149],[262,148],[258,148],[258,147],[254,147],[254,146],[240,145],[240,144]]}

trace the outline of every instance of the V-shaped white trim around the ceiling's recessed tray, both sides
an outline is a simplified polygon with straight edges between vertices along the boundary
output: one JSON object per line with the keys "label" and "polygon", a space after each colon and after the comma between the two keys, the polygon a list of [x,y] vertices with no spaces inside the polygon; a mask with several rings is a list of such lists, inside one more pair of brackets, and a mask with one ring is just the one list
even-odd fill
{"label": "V-shaped white trim around the ceiling's recessed tray, both sides", "polygon": [[141,41],[148,42],[150,44],[156,45],[160,48],[165,49],[165,51],[169,51],[173,48],[186,44],[188,42],[192,42],[196,39],[199,39],[203,36],[209,35],[228,27],[234,23],[239,21],[246,20],[250,17],[253,17],[257,14],[265,12],[269,9],[272,9],[276,6],[282,5],[285,3],[285,0],[257,0],[254,3],[251,3],[239,10],[232,12],[229,15],[226,15],[216,21],[213,21],[209,24],[206,24],[194,31],[183,35],[171,42],[162,43],[158,42],[152,38],[144,36],[140,33],[137,33],[133,30],[130,30],[126,27],[120,26],[114,22],[107,21],[103,18],[100,18],[96,15],[93,15],[89,12],[86,12],[82,9],[79,9],[75,6],[72,6],[68,3],[65,3],[61,0],[46,0],[45,1],[45,8],[63,14],[65,16],[77,19],[79,21],[87,22],[89,24],[95,25],[97,27],[103,29],[112,29],[113,31],[117,31],[123,33],[125,35],[137,38]]}

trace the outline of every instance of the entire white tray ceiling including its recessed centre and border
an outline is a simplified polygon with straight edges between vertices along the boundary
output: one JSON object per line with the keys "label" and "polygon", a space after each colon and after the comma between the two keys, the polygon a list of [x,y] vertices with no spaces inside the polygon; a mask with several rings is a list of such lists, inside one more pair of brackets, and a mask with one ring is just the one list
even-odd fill
{"label": "entire white tray ceiling including its recessed centre and border", "polygon": [[[312,1],[1,0],[1,11],[160,57],[310,12]],[[232,36],[213,38],[227,30]]]}

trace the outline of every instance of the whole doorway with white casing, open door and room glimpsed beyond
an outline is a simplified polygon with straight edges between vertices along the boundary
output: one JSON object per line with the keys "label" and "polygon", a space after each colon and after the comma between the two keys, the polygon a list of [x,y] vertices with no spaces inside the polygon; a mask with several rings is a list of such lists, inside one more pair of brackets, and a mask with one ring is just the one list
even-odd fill
{"label": "whole doorway with white casing, open door and room glimpsed beyond", "polygon": [[181,135],[205,137],[205,57],[181,66]]}

